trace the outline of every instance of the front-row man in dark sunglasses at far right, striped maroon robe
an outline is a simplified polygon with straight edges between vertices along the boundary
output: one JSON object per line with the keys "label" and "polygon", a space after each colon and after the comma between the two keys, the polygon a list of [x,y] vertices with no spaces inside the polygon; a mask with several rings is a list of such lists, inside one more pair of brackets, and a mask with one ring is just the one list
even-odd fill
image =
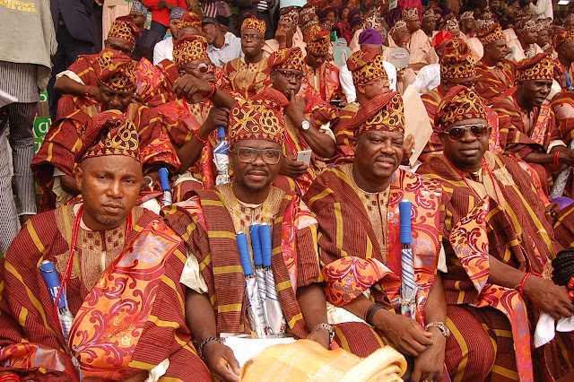
{"label": "front-row man in dark sunglasses at far right, striped maroon robe", "polygon": [[[451,378],[543,380],[553,373],[558,379],[568,372],[559,365],[570,360],[550,355],[550,349],[570,349],[571,339],[557,334],[547,349],[534,352],[531,337],[539,314],[558,319],[574,312],[567,291],[541,276],[562,249],[546,217],[552,204],[544,203],[517,161],[488,151],[491,128],[473,90],[448,91],[435,123],[444,155],[432,155],[417,172],[443,184],[448,326],[467,330],[447,347],[447,366],[459,368],[449,366],[449,355],[465,352],[469,343],[480,343],[488,359],[483,378],[466,379],[460,369]],[[545,356],[533,360],[535,354]]]}

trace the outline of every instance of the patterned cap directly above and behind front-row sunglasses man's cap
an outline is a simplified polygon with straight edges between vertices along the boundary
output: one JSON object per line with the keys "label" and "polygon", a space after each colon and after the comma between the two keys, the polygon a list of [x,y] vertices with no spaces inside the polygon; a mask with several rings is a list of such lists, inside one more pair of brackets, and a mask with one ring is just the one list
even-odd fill
{"label": "patterned cap directly above and behind front-row sunglasses man's cap", "polygon": [[452,39],[442,49],[440,59],[440,78],[474,77],[474,58],[472,50],[463,39]]}

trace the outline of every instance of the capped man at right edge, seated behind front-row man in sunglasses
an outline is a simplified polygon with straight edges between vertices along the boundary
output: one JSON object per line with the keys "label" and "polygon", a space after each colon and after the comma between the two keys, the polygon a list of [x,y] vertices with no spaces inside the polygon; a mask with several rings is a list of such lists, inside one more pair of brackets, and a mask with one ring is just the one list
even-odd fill
{"label": "capped man at right edge, seated behind front-row man in sunglasses", "polygon": [[546,100],[552,76],[553,63],[548,54],[523,60],[517,65],[517,90],[492,105],[500,116],[510,118],[508,129],[500,132],[505,137],[506,152],[530,163],[543,187],[549,183],[546,180],[549,165],[574,164],[574,152],[562,141],[552,107]]}

